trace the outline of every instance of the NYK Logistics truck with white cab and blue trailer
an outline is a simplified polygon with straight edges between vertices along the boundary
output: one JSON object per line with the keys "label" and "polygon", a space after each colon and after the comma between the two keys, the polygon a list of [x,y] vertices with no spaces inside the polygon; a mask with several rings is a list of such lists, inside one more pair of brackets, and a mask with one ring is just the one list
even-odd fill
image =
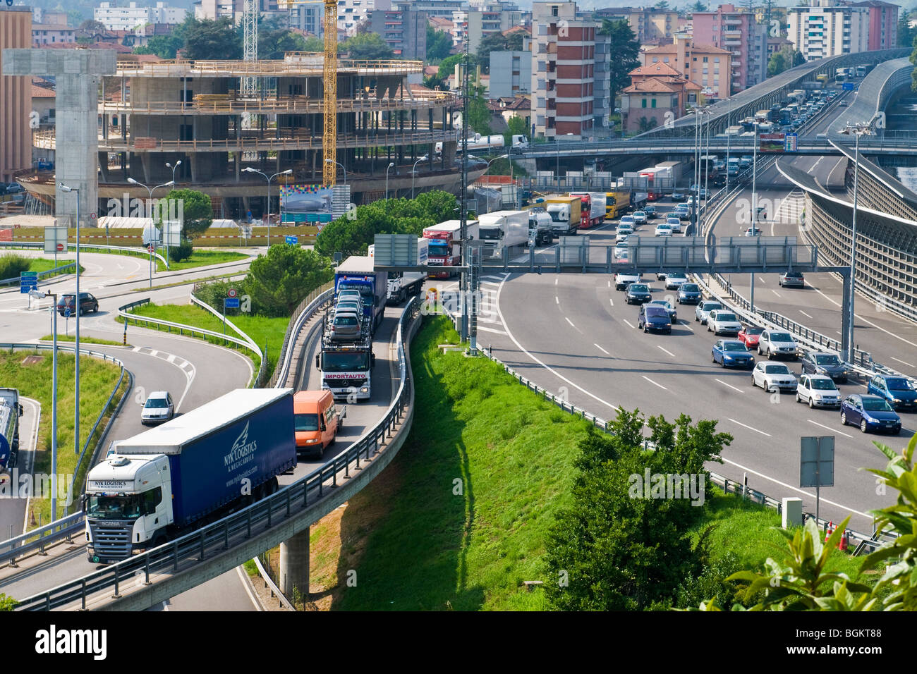
{"label": "NYK Logistics truck with white cab and blue trailer", "polygon": [[293,389],[237,389],[117,440],[89,471],[89,561],[106,564],[182,536],[277,490],[296,466]]}

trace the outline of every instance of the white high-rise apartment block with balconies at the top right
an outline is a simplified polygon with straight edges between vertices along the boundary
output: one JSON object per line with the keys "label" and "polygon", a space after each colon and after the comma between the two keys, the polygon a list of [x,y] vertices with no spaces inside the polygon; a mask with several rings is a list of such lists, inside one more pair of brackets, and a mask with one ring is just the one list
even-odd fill
{"label": "white high-rise apartment block with balconies at the top right", "polygon": [[867,3],[812,0],[812,6],[790,7],[787,37],[806,61],[856,54],[869,49],[869,15]]}

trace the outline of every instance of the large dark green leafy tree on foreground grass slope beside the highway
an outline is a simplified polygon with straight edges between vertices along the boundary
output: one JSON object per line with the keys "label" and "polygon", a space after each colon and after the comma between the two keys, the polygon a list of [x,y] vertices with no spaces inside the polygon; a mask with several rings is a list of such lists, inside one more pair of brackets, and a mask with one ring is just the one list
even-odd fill
{"label": "large dark green leafy tree on foreground grass slope beside the highway", "polygon": [[[645,421],[655,451],[642,446]],[[732,441],[715,427],[713,421],[691,425],[684,414],[670,424],[622,410],[611,436],[589,429],[575,462],[573,503],[549,533],[545,588],[555,608],[642,610],[670,602],[686,578],[702,576],[707,535],[692,544],[684,533],[700,509],[687,499],[637,496],[633,485],[646,470],[688,473],[703,480],[706,491],[704,461],[722,461],[720,452]]]}

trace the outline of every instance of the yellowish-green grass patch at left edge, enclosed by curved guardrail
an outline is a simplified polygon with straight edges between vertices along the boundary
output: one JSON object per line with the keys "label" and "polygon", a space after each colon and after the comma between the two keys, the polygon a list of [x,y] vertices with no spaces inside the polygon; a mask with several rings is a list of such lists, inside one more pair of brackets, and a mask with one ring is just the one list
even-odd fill
{"label": "yellowish-green grass patch at left edge, enclosed by curved guardrail", "polygon": [[[50,475],[51,471],[51,354],[48,351],[4,351],[0,353],[0,381],[4,386],[18,389],[19,394],[32,398],[41,403],[41,420],[39,425],[39,443],[35,454],[34,468],[23,460],[24,453],[19,454],[18,469],[20,473],[27,468],[36,473]],[[80,450],[86,443],[86,438],[93,429],[96,418],[102,412],[108,397],[120,376],[120,368],[111,362],[83,356],[80,359]],[[66,475],[66,492],[61,492],[63,482],[59,487],[59,497],[70,491],[73,472],[79,455],[73,451],[73,414],[75,409],[75,394],[73,391],[74,359],[71,354],[58,353],[58,474]],[[116,393],[113,405],[127,388],[127,376],[122,381],[121,389]],[[97,441],[101,430],[105,427],[107,416],[99,424],[94,436]],[[30,446],[29,434],[34,432],[31,425],[20,427],[20,441],[22,445]],[[93,448],[90,445],[87,454]],[[84,460],[83,463],[86,463]],[[83,471],[84,472],[84,471]],[[73,494],[73,504],[70,512],[79,507],[76,500],[79,498],[80,481],[77,482],[77,493]],[[58,517],[65,502],[59,498]],[[50,499],[32,499],[29,504],[28,528],[34,528],[40,522],[50,522]]]}

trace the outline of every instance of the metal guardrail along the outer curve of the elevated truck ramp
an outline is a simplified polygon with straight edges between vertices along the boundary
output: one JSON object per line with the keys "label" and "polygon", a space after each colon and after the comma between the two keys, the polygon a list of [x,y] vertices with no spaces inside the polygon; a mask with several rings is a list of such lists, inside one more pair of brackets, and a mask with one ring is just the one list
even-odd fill
{"label": "metal guardrail along the outer curve of the elevated truck ramp", "polygon": [[[337,487],[339,472],[343,471],[344,479],[348,479],[351,465],[355,470],[359,470],[361,461],[371,461],[370,454],[374,456],[379,453],[381,447],[392,438],[395,426],[405,420],[405,414],[410,418],[414,384],[408,375],[405,342],[411,326],[414,326],[414,319],[420,313],[420,308],[418,298],[412,298],[398,321],[397,358],[400,385],[392,398],[392,403],[381,420],[346,451],[304,478],[257,503],[160,547],[22,599],[17,603],[17,610],[50,611],[72,605],[74,602],[79,602],[80,607],[85,609],[87,601],[95,593],[114,591],[118,596],[121,584],[127,583],[128,580],[143,578],[143,582],[149,584],[150,574],[153,572],[176,573],[188,569],[244,542],[253,534],[259,534],[274,525],[289,521],[290,518],[301,516],[310,507],[320,505],[323,496]],[[330,485],[327,485],[327,482],[330,482]]]}

